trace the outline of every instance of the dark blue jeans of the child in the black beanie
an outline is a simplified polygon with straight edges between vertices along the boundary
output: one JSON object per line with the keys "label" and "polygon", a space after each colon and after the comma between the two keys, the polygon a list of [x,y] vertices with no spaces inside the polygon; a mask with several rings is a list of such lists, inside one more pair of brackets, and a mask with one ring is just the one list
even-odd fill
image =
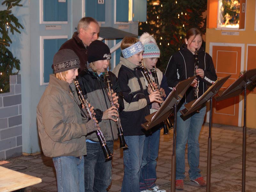
{"label": "dark blue jeans of the child in the black beanie", "polygon": [[[114,142],[107,142],[113,153]],[[87,156],[84,156],[84,187],[86,192],[107,191],[112,180],[111,161],[105,162],[100,143],[86,142]]]}

